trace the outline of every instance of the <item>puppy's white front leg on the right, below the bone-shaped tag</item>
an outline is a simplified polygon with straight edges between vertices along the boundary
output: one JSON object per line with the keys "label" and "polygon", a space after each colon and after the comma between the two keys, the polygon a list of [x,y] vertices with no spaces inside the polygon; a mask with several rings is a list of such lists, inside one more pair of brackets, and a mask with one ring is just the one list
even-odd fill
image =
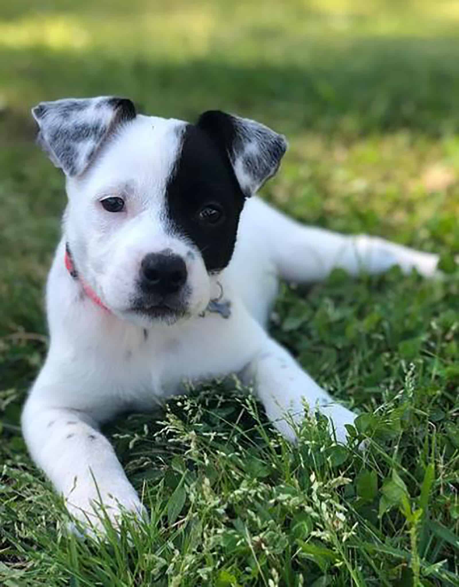
{"label": "puppy's white front leg on the right, below the bone-shaped tag", "polygon": [[356,414],[340,406],[268,335],[262,348],[245,368],[242,378],[254,384],[269,419],[288,440],[295,441],[291,423],[296,424],[303,419],[305,402],[310,413],[319,409],[325,414],[330,421],[330,430],[335,431],[336,440],[346,443],[345,425],[352,424]]}

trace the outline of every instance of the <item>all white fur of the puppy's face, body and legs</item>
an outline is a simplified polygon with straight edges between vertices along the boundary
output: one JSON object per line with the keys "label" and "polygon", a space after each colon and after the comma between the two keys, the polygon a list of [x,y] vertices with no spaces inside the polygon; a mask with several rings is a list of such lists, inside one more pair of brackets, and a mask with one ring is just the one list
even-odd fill
{"label": "all white fur of the puppy's face, body and legs", "polygon": [[[336,403],[265,331],[278,277],[298,282],[325,278],[334,267],[353,275],[394,264],[433,275],[437,257],[383,239],[347,237],[305,227],[257,197],[242,212],[230,265],[218,276],[230,318],[200,313],[218,295],[193,244],[164,221],[164,189],[176,160],[183,123],[137,117],[120,131],[82,178],[67,179],[64,235],[46,290],[50,349],[22,415],[35,462],[80,520],[94,517],[102,498],[116,521],[120,508],[143,507],[99,424],[126,409],[147,410],[182,392],[184,380],[239,373],[254,384],[274,426],[289,440],[289,418],[303,417],[303,400],[329,417],[340,442],[355,414]],[[177,133],[177,131],[179,131]],[[151,140],[160,147],[146,148]],[[251,147],[257,148],[256,146]],[[126,214],[104,214],[103,196],[122,194]],[[65,242],[75,263],[110,309],[84,295],[64,265]],[[190,316],[172,325],[132,316],[134,276],[150,251],[170,248],[186,256],[192,295]],[[215,289],[217,288],[217,289]],[[144,334],[147,329],[147,338]]]}

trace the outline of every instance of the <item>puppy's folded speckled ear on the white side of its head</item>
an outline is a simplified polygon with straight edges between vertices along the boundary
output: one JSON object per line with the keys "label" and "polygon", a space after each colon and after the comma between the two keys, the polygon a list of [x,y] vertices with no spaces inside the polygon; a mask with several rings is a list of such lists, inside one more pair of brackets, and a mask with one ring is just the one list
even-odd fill
{"label": "puppy's folded speckled ear on the white side of its head", "polygon": [[126,98],[102,96],[41,102],[32,109],[38,144],[68,177],[80,176],[114,128],[136,117]]}

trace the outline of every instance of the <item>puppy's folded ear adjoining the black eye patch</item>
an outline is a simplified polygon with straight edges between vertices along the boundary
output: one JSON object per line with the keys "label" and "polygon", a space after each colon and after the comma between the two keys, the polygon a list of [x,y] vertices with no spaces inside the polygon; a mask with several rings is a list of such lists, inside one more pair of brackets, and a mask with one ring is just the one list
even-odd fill
{"label": "puppy's folded ear adjoining the black eye patch", "polygon": [[208,110],[199,117],[203,129],[224,151],[246,197],[254,194],[279,168],[287,149],[282,134],[255,120]]}

